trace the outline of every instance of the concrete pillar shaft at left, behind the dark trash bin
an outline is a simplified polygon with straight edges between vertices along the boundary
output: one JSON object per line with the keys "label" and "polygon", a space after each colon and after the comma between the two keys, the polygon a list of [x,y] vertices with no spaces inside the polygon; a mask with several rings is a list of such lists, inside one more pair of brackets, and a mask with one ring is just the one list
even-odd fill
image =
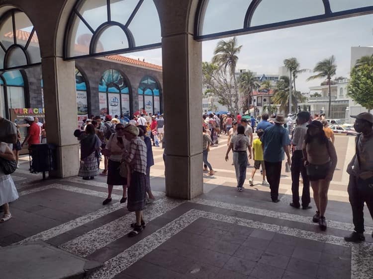
{"label": "concrete pillar shaft at left, behind the dark trash bin", "polygon": [[47,140],[57,145],[57,170],[50,176],[75,176],[79,171],[79,145],[73,136],[78,126],[75,63],[43,58],[42,74]]}

